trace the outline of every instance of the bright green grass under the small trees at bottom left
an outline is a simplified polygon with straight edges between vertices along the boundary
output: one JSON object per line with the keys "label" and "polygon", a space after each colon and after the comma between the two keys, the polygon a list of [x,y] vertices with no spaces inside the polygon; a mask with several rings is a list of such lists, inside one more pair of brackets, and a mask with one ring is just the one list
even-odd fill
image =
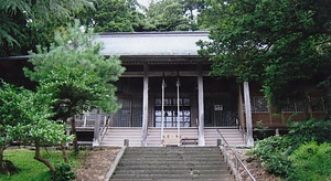
{"label": "bright green grass under the small trees at bottom left", "polygon": [[[42,151],[42,156],[51,160],[56,167],[63,163],[61,151]],[[50,169],[42,162],[34,160],[34,150],[26,149],[9,149],[4,150],[4,160],[10,160],[18,169],[19,173],[13,175],[0,174],[0,181],[49,181]],[[68,152],[70,164],[73,168],[78,167],[78,159],[73,153]]]}

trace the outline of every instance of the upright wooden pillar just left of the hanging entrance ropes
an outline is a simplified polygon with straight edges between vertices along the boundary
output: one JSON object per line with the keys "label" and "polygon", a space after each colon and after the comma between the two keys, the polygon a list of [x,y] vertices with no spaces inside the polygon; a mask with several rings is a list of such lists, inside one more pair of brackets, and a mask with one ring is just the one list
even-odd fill
{"label": "upright wooden pillar just left of the hanging entrance ropes", "polygon": [[143,95],[142,95],[142,139],[141,146],[146,147],[148,128],[148,65],[143,65]]}

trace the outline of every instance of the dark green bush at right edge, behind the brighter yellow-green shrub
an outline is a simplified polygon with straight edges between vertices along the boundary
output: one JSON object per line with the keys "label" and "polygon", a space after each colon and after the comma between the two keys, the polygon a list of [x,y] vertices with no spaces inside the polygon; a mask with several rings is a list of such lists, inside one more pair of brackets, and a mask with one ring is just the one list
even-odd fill
{"label": "dark green bush at right edge, behind the brighter yellow-green shrub", "polygon": [[290,124],[289,137],[295,148],[311,140],[318,143],[331,142],[331,119],[293,121]]}

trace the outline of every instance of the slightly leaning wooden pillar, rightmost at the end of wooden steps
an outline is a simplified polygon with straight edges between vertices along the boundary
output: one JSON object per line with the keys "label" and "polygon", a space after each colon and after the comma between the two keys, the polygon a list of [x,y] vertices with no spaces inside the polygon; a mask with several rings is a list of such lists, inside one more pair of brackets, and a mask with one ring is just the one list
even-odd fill
{"label": "slightly leaning wooden pillar, rightmost at the end of wooden steps", "polygon": [[246,142],[248,147],[254,147],[250,95],[249,95],[248,82],[244,82],[244,99],[245,99],[245,115],[246,115],[246,128],[247,128]]}

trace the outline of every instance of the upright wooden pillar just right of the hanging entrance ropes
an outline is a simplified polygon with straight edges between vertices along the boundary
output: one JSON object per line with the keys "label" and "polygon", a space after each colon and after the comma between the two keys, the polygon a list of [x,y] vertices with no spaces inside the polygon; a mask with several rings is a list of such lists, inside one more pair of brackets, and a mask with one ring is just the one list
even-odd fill
{"label": "upright wooden pillar just right of the hanging entrance ropes", "polygon": [[205,146],[204,139],[204,104],[203,104],[203,76],[199,68],[197,74],[197,102],[199,102],[199,146]]}

